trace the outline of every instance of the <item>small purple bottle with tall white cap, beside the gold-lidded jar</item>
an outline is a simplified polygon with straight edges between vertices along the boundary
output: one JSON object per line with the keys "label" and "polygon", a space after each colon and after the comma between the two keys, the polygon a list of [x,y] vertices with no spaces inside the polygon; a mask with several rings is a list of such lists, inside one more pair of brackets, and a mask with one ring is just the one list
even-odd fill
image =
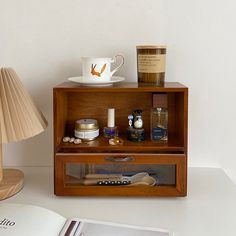
{"label": "small purple bottle with tall white cap, beside the gold-lidded jar", "polygon": [[103,128],[105,138],[114,138],[118,136],[118,127],[115,126],[115,109],[109,108],[107,111],[107,127]]}

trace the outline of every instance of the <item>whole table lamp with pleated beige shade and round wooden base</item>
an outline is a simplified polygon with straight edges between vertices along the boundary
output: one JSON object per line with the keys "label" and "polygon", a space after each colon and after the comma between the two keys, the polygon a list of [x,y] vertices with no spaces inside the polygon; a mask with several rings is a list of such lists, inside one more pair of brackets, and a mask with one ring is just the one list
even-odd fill
{"label": "whole table lamp with pleated beige shade and round wooden base", "polygon": [[20,141],[41,133],[47,127],[43,114],[24,89],[16,72],[0,69],[0,200],[19,192],[24,174],[16,169],[4,169],[2,143]]}

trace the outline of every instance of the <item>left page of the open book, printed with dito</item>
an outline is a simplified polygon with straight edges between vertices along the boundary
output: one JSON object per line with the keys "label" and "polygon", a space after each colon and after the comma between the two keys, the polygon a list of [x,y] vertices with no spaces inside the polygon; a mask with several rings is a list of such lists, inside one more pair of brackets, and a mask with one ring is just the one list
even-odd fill
{"label": "left page of the open book, printed with dito", "polygon": [[0,204],[1,236],[58,236],[66,219],[45,208]]}

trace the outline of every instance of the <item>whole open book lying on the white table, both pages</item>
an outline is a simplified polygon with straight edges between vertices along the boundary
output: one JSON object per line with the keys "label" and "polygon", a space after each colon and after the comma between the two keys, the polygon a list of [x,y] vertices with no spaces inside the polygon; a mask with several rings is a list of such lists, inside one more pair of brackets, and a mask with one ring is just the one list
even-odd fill
{"label": "whole open book lying on the white table, both pages", "polygon": [[158,228],[66,219],[45,208],[0,204],[1,236],[170,236]]}

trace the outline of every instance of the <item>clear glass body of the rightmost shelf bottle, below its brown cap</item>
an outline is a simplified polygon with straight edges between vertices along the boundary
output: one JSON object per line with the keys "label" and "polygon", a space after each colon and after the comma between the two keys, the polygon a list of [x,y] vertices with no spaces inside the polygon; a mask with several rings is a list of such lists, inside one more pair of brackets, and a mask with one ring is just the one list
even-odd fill
{"label": "clear glass body of the rightmost shelf bottle, below its brown cap", "polygon": [[151,140],[168,140],[168,110],[167,108],[152,108],[151,110]]}

